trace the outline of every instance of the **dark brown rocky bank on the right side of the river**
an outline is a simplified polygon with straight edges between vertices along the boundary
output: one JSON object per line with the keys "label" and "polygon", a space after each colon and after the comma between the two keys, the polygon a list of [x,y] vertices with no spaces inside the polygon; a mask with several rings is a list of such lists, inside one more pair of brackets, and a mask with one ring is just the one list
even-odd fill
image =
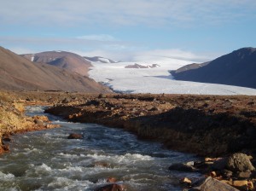
{"label": "dark brown rocky bank on the right side of the river", "polygon": [[218,157],[254,154],[255,96],[109,95],[46,112],[73,122],[123,128],[167,148]]}

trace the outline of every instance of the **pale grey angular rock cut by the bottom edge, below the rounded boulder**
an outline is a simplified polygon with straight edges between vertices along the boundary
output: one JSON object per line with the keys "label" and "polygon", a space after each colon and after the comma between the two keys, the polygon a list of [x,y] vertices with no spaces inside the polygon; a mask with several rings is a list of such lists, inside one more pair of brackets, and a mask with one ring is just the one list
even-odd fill
{"label": "pale grey angular rock cut by the bottom edge, below the rounded boulder", "polygon": [[207,177],[207,180],[201,185],[201,191],[239,191],[231,187],[229,184],[220,182],[212,177]]}

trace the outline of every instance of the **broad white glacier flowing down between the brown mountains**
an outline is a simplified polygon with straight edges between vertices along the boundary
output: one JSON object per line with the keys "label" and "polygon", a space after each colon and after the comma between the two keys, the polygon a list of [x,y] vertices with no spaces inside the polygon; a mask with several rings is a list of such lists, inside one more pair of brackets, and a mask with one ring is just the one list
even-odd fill
{"label": "broad white glacier flowing down between the brown mountains", "polygon": [[[153,68],[125,68],[135,63],[141,66],[157,64]],[[222,84],[206,84],[174,80],[170,70],[195,63],[171,58],[158,61],[137,61],[118,63],[92,62],[90,78],[107,84],[112,90],[126,93],[166,93],[201,95],[256,95],[256,90]]]}

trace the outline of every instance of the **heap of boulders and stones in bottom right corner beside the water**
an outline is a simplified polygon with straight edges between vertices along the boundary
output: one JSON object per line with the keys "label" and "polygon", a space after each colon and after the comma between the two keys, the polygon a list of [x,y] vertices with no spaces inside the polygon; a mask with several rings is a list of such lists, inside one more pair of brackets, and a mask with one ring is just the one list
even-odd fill
{"label": "heap of boulders and stones in bottom right corner beside the water", "polygon": [[170,171],[198,171],[208,177],[193,182],[188,177],[180,183],[189,190],[253,190],[255,184],[253,157],[244,153],[234,153],[225,158],[206,158],[204,161],[189,161],[173,164]]}

